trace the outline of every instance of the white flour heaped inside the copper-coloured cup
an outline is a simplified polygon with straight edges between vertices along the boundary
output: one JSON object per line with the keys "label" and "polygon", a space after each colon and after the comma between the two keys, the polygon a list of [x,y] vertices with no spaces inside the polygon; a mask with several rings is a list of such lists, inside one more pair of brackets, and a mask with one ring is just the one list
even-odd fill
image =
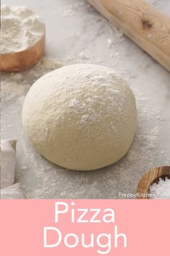
{"label": "white flour heaped inside the copper-coloured cup", "polygon": [[34,46],[42,38],[45,25],[26,7],[1,7],[1,54],[16,53]]}

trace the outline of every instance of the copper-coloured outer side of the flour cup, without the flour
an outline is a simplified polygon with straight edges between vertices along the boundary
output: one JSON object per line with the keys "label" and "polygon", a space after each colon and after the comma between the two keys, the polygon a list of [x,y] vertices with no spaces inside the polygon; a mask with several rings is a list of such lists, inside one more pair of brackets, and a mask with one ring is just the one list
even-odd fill
{"label": "copper-coloured outer side of the flour cup, without the flour", "polygon": [[34,46],[12,54],[1,54],[1,71],[14,72],[36,64],[44,53],[45,29],[42,38]]}

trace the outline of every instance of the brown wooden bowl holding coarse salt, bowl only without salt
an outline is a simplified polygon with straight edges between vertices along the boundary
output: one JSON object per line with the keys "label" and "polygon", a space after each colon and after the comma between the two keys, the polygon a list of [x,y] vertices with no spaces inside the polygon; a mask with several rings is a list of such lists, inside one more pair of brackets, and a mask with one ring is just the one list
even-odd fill
{"label": "brown wooden bowl holding coarse salt, bowl only without salt", "polygon": [[158,167],[148,171],[142,179],[140,179],[136,191],[138,193],[136,199],[148,199],[150,186],[158,182],[160,178],[165,179],[166,177],[170,179],[170,166]]}

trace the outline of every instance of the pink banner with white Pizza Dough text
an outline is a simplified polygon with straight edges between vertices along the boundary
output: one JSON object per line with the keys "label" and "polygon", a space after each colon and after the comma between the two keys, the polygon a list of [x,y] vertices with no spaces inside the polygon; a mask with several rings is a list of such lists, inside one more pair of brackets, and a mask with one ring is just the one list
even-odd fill
{"label": "pink banner with white Pizza Dough text", "polygon": [[0,200],[4,256],[168,256],[170,200]]}

